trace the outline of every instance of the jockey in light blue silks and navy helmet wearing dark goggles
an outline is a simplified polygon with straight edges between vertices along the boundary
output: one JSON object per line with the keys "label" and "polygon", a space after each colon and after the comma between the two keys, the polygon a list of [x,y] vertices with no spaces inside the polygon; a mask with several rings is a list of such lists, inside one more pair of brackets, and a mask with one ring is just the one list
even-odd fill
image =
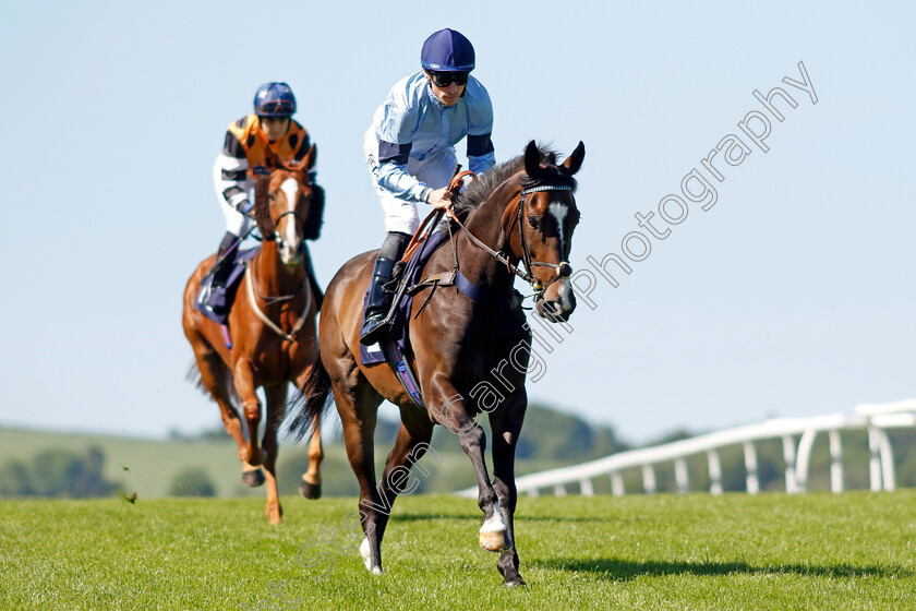
{"label": "jockey in light blue silks and navy helmet wearing dark goggles", "polygon": [[382,199],[387,237],[372,271],[360,335],[364,345],[375,344],[385,333],[393,292],[384,287],[420,225],[417,204],[441,209],[451,201],[447,189],[455,145],[467,136],[468,163],[475,173],[491,169],[496,159],[490,140],[493,105],[470,75],[470,40],[454,29],[441,29],[423,43],[420,64],[423,70],[391,87],[365,134],[366,161]]}

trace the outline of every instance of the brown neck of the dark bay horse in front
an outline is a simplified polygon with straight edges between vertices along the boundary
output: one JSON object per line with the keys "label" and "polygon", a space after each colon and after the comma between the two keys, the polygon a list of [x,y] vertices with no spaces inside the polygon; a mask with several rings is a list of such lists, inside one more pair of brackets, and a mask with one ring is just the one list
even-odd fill
{"label": "brown neck of the dark bay horse in front", "polygon": [[[468,230],[480,241],[495,251],[503,251],[513,264],[518,262],[511,254],[508,236],[504,231],[503,217],[506,214],[506,207],[511,202],[515,189],[517,189],[515,180],[503,182],[471,213],[466,224]],[[459,231],[457,241],[458,260],[465,277],[478,286],[497,291],[511,289],[514,276],[504,264],[473,243],[463,231]]]}

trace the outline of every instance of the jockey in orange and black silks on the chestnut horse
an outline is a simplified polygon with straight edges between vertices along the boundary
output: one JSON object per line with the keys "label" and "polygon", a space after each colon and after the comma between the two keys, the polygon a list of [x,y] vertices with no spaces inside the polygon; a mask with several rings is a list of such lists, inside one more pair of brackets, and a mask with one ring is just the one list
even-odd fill
{"label": "jockey in orange and black silks on the chestnut horse", "polygon": [[[251,191],[258,175],[269,176],[265,149],[284,163],[300,161],[312,146],[309,132],[292,119],[296,97],[286,83],[265,83],[254,94],[254,113],[231,123],[222,153],[216,158],[213,181],[226,217],[226,235],[219,243],[208,307],[219,316],[229,313],[226,281],[236,263],[237,243],[253,223]],[[314,285],[311,259],[306,257]],[[315,287],[317,288],[317,287]]]}

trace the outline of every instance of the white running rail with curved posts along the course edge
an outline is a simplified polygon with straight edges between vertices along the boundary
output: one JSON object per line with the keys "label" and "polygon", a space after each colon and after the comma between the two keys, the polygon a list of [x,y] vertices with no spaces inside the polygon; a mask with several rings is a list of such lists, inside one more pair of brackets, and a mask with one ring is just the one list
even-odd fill
{"label": "white running rail with curved posts along the course edge", "polygon": [[[567,493],[567,484],[578,483],[583,496],[592,496],[594,495],[593,480],[598,477],[610,476],[612,493],[620,496],[625,493],[622,471],[638,467],[642,470],[642,488],[646,493],[651,494],[655,492],[654,466],[673,462],[677,491],[687,492],[689,481],[686,458],[706,454],[709,464],[710,492],[722,494],[722,466],[719,450],[742,445],[747,470],[747,492],[756,494],[760,491],[760,482],[757,477],[757,451],[754,444],[763,440],[778,439],[783,443],[786,492],[805,492],[815,438],[818,433],[827,433],[831,456],[830,488],[839,493],[843,491],[840,431],[866,430],[868,431],[868,447],[871,452],[869,460],[871,490],[893,490],[893,454],[885,429],[906,427],[916,427],[916,398],[881,405],[859,405],[853,414],[779,418],[665,445],[620,452],[581,465],[519,477],[516,479],[516,488],[519,494],[529,496],[538,496],[544,490],[551,490],[554,494],[562,496]],[[799,435],[796,444],[796,436]],[[456,494],[477,498],[478,489],[477,487],[468,488]]]}

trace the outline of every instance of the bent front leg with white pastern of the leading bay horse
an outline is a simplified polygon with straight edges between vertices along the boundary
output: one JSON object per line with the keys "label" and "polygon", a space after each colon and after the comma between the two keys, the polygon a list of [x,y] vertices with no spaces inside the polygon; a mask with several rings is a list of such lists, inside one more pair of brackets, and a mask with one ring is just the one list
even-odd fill
{"label": "bent front leg with white pastern of the leading bay horse", "polygon": [[439,375],[433,382],[430,410],[438,422],[458,435],[461,450],[471,459],[478,480],[478,505],[483,511],[483,526],[480,527],[480,547],[491,552],[508,550],[513,546],[506,523],[499,511],[499,502],[490,476],[483,453],[486,435],[465,408],[465,399],[451,383]]}

